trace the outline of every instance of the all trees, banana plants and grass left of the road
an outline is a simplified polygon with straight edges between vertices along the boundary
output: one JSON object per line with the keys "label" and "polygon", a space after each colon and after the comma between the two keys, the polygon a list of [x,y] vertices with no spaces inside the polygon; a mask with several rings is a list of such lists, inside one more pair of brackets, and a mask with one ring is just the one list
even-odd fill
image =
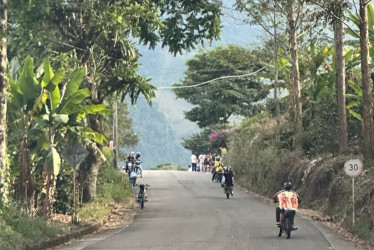
{"label": "all trees, banana plants and grass left of the road", "polygon": [[[151,104],[156,90],[138,73],[134,41],[182,53],[219,37],[220,13],[201,0],[0,3],[1,249],[102,223],[114,204],[133,206],[118,170],[119,149],[139,141],[126,102]],[[54,219],[75,212],[78,225],[55,229]]]}

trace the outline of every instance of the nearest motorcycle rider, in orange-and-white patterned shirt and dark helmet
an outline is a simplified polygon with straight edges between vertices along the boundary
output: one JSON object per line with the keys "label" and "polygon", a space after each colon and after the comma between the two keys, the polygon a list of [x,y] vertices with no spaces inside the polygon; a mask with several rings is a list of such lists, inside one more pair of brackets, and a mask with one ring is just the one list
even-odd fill
{"label": "nearest motorcycle rider, in orange-and-white patterned shirt and dark helmet", "polygon": [[[299,206],[299,195],[292,190],[291,182],[285,182],[283,184],[283,190],[280,190],[273,196],[274,202],[279,202],[279,206],[275,210],[276,225],[279,226],[280,214],[284,213],[287,209],[294,210],[295,213]],[[293,217],[294,218],[294,217]],[[293,222],[292,222],[293,224]],[[297,227],[293,226],[292,230],[296,230]]]}

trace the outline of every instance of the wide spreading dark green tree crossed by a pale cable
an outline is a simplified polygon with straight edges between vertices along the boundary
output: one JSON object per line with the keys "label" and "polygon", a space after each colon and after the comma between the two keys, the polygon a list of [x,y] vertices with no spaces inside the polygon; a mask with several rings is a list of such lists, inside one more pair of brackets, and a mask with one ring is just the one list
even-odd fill
{"label": "wide spreading dark green tree crossed by a pale cable", "polygon": [[191,104],[186,118],[203,128],[225,124],[232,115],[250,116],[260,111],[258,101],[268,91],[251,76],[262,67],[251,51],[237,45],[201,52],[187,62],[188,69],[174,92]]}

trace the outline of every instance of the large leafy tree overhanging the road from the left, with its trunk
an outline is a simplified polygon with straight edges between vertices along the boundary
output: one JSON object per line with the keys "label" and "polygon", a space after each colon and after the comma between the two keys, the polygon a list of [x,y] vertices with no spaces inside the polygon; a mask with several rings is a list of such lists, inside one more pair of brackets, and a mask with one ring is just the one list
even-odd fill
{"label": "large leafy tree overhanging the road from the left, with its trunk", "polygon": [[[137,73],[140,55],[135,39],[150,48],[161,43],[176,54],[216,39],[220,33],[216,1],[21,0],[12,8],[12,53],[57,54],[58,63],[86,67],[85,85],[91,89],[94,104],[115,93],[122,100],[129,96],[132,103],[141,94],[149,102],[154,97],[155,88]],[[96,116],[88,120],[93,130],[102,132],[102,120]],[[85,164],[88,201],[96,196],[101,161],[92,151]]]}

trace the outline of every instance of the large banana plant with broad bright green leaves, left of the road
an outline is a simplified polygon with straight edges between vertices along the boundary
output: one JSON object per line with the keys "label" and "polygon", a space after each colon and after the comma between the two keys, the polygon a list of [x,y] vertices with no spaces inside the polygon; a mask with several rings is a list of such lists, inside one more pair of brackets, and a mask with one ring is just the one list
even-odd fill
{"label": "large banana plant with broad bright green leaves, left of the road", "polygon": [[[46,197],[41,200],[43,214],[49,216],[52,207],[52,197],[55,189],[55,177],[61,167],[60,153],[68,140],[75,139],[82,142],[104,143],[103,135],[88,128],[84,118],[88,114],[110,114],[103,104],[86,104],[90,96],[87,88],[80,88],[85,69],[75,70],[66,84],[62,84],[64,72],[53,72],[47,59],[43,64],[43,77],[37,80],[34,74],[34,64],[31,57],[27,57],[16,81],[10,79],[11,98],[9,103],[9,123],[15,123],[13,143],[20,142],[19,156],[21,173],[24,177],[20,185],[27,181],[29,187],[26,199],[31,200],[33,182],[32,173],[41,173],[39,191]],[[64,91],[61,89],[64,88]],[[25,131],[24,133],[22,133]],[[22,138],[22,139],[21,139]],[[30,160],[35,159],[30,168]],[[42,162],[40,164],[39,162]],[[39,163],[39,164],[38,164]],[[22,175],[21,175],[22,176]],[[21,189],[22,190],[22,189]],[[32,204],[29,204],[31,208]],[[39,204],[40,205],[40,204]]]}

